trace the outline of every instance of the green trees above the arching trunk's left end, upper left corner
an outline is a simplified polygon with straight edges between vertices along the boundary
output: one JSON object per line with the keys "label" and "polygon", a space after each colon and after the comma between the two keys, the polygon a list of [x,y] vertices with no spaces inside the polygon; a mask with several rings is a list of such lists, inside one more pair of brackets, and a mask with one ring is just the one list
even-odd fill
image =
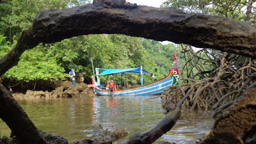
{"label": "green trees above the arching trunk's left end, upper left corner", "polygon": [[36,14],[41,10],[60,10],[86,3],[90,3],[90,0],[2,0],[0,35],[7,36],[12,42],[13,36],[19,36],[22,30],[31,26]]}

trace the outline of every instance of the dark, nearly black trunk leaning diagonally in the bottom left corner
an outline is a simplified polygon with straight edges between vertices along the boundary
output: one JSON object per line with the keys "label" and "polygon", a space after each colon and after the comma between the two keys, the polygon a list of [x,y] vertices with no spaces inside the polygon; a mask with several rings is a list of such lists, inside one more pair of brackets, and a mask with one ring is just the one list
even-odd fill
{"label": "dark, nearly black trunk leaning diagonally in the bottom left corner", "polygon": [[0,118],[10,127],[20,143],[46,144],[28,115],[13,99],[11,93],[0,83]]}

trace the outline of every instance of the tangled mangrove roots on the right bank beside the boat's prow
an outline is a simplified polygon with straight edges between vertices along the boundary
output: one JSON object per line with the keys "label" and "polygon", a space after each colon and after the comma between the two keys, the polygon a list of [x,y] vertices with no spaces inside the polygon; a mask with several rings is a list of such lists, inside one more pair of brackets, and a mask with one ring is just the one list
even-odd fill
{"label": "tangled mangrove roots on the right bank beside the boat's prow", "polygon": [[[216,54],[216,51],[205,49],[196,54],[191,49],[183,50],[185,57],[190,60],[187,60],[182,72],[186,71],[187,77],[191,78],[181,78],[179,85],[173,85],[164,92],[164,108],[184,106],[190,110],[216,109],[212,115],[214,116],[236,102],[256,79],[256,62],[248,58],[227,53],[220,56],[221,53]],[[202,52],[205,52],[208,58],[201,56]],[[237,58],[244,60],[243,63],[234,62]],[[195,74],[193,70],[198,72]]]}

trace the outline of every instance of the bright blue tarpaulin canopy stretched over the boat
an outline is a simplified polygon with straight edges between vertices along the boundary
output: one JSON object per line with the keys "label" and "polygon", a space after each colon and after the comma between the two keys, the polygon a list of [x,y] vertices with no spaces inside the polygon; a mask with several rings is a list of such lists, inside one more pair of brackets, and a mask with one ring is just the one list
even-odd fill
{"label": "bright blue tarpaulin canopy stretched over the boat", "polygon": [[[112,74],[124,74],[124,73],[140,73],[140,68],[128,68],[128,69],[105,69],[98,76],[112,75]],[[150,74],[146,70],[143,70],[144,74]]]}

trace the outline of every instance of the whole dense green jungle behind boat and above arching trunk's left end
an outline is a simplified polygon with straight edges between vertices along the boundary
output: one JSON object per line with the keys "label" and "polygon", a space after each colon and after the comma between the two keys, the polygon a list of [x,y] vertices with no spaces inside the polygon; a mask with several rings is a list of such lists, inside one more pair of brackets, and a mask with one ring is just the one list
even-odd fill
{"label": "whole dense green jungle behind boat and above arching trunk's left end", "polygon": [[[31,26],[40,10],[63,9],[86,3],[89,1],[1,1],[0,58],[12,49],[22,30]],[[86,72],[85,83],[90,83],[90,77],[93,75],[92,65],[94,68],[132,68],[143,65],[148,72],[158,68],[161,78],[168,74],[169,68],[172,67],[174,49],[181,66],[184,58],[180,54],[179,45],[163,45],[154,40],[125,35],[77,36],[55,44],[40,44],[24,52],[18,65],[8,70],[1,78],[17,82],[58,81],[67,79],[70,69],[75,68],[76,72]],[[122,81],[126,84],[140,83],[139,74],[125,75]],[[115,76],[118,83],[121,83],[120,78]],[[150,76],[145,76],[144,83],[150,82]]]}

